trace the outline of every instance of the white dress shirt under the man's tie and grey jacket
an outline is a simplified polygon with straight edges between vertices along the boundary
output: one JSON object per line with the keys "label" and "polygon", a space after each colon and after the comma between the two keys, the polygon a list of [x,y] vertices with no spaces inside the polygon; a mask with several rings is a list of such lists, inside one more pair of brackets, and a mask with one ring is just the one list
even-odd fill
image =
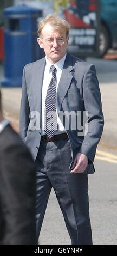
{"label": "white dress shirt under the man's tie and grey jacket", "polygon": [[[62,59],[59,60],[59,62],[56,62],[55,64],[51,64],[49,60],[46,57],[46,67],[44,70],[44,76],[43,76],[43,85],[42,85],[42,129],[41,129],[41,136],[44,135],[44,114],[45,114],[45,103],[46,103],[46,95],[47,95],[47,90],[52,78],[52,72],[51,72],[51,66],[54,65],[56,68],[56,78],[57,78],[57,83],[56,83],[56,92],[57,88],[59,86],[62,70],[63,70],[63,65],[64,65],[64,60],[66,59],[65,54]],[[57,111],[56,111],[57,113]],[[59,133],[64,133],[64,126],[61,123],[61,120],[59,118],[59,115],[57,114],[57,124],[58,124],[58,131],[55,134]]]}

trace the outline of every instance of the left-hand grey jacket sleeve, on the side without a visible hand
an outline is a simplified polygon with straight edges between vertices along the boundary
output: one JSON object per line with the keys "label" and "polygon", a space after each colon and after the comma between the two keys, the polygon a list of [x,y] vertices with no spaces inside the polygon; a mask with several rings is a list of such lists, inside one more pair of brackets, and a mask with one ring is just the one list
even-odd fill
{"label": "left-hand grey jacket sleeve, on the side without a visible hand", "polygon": [[30,107],[28,102],[28,94],[27,94],[27,82],[25,78],[25,67],[23,70],[22,77],[22,99],[21,99],[21,109],[20,109],[20,117],[19,117],[19,132],[24,141],[27,136],[27,130],[30,123]]}

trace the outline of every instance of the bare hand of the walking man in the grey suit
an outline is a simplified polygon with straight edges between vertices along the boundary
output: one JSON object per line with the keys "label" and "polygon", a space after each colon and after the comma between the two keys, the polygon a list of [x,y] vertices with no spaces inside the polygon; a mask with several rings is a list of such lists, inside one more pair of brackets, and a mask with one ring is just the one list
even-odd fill
{"label": "bare hand of the walking man in the grey suit", "polygon": [[88,164],[88,157],[84,154],[77,154],[73,163],[70,173],[83,173],[85,172]]}

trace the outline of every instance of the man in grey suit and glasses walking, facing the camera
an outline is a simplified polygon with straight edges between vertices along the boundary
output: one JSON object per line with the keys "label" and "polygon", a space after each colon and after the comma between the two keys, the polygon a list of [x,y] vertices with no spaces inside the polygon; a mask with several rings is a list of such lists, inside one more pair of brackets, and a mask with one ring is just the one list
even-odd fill
{"label": "man in grey suit and glasses walking, facing the camera", "polygon": [[20,115],[37,165],[37,235],[53,187],[72,245],[92,245],[87,174],[103,130],[95,67],[67,53],[66,20],[48,15],[38,36],[46,58],[24,67]]}

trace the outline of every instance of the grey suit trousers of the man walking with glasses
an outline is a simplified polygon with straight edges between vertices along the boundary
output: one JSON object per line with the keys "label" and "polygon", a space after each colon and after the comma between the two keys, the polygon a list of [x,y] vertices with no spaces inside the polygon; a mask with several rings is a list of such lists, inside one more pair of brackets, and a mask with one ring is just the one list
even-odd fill
{"label": "grey suit trousers of the man walking with glasses", "polygon": [[51,188],[54,188],[72,245],[92,245],[87,174],[70,174],[71,148],[68,139],[41,139],[37,166],[37,235],[40,235]]}

